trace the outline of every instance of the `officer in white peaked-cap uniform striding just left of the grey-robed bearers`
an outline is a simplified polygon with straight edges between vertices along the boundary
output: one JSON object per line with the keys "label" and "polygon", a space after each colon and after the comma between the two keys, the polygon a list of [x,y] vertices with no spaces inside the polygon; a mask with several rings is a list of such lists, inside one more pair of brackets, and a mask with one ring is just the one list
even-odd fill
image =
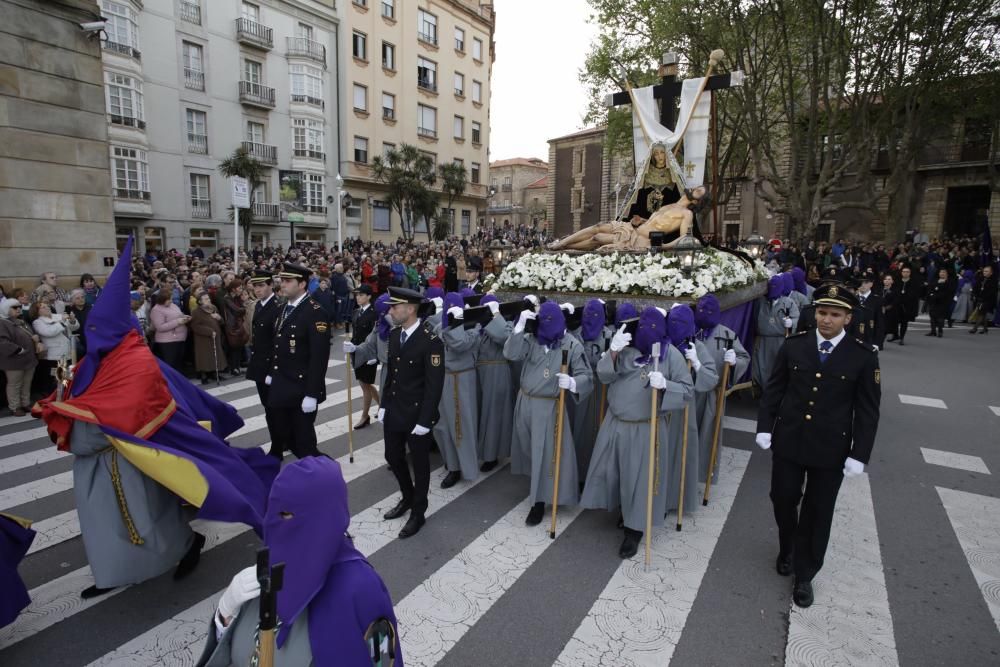
{"label": "officer in white peaked-cap uniform striding just left of the grey-robed bearers", "polygon": [[[422,301],[413,290],[389,288],[389,317],[395,328],[389,334],[389,370],[378,418],[385,433],[385,458],[403,496],[384,518],[398,519],[410,513],[399,532],[400,539],[416,535],[424,525],[431,477],[431,428],[438,420],[444,388],[444,344],[433,326],[418,317]],[[355,364],[367,361],[361,356],[359,348]],[[407,446],[413,478],[406,463]]]}

